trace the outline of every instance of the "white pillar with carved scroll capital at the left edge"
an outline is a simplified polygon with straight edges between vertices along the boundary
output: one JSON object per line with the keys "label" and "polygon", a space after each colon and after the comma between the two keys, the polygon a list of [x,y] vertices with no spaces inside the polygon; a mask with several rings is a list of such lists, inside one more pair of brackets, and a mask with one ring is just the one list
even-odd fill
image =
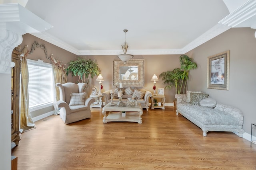
{"label": "white pillar with carved scroll capital at the left edge", "polygon": [[12,50],[25,33],[42,32],[52,26],[19,4],[0,4],[0,165],[11,169],[11,67]]}

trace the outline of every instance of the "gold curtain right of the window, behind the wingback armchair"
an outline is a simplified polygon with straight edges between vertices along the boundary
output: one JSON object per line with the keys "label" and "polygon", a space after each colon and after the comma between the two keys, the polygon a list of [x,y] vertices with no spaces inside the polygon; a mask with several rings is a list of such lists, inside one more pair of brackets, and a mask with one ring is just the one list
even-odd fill
{"label": "gold curtain right of the window, behind the wingback armchair", "polygon": [[64,84],[68,82],[66,72],[65,72],[65,67],[63,64],[61,64],[58,59],[54,59],[54,57],[50,57],[52,61],[52,73],[53,73],[53,86],[54,86],[54,114],[58,115],[59,114],[59,109],[58,106],[56,105],[56,102],[60,100],[60,90],[55,86],[56,83]]}

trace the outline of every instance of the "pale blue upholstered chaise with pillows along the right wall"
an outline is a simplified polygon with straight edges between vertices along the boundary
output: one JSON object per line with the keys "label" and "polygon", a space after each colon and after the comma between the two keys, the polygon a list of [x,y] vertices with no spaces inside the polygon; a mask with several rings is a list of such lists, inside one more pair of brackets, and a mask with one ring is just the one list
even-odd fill
{"label": "pale blue upholstered chaise with pillows along the right wall", "polygon": [[[198,97],[199,93],[202,92],[187,91],[187,94],[176,94],[176,114],[180,113],[200,127],[205,137],[208,131],[234,132],[242,137],[244,133],[242,111],[233,106],[217,103],[216,100],[209,97],[200,98]],[[192,97],[195,95],[197,95],[196,100],[198,100],[196,104],[192,102]]]}

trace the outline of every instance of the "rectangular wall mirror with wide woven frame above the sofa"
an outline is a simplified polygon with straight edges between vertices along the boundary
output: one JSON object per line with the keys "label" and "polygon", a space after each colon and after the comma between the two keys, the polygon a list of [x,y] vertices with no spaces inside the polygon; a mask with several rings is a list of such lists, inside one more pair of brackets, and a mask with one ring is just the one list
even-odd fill
{"label": "rectangular wall mirror with wide woven frame above the sofa", "polygon": [[113,86],[144,87],[144,60],[121,60],[113,63]]}

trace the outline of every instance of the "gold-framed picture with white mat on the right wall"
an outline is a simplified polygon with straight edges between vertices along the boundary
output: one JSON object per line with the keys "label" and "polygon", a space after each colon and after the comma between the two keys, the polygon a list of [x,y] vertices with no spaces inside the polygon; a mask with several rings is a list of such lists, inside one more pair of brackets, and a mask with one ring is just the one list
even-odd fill
{"label": "gold-framed picture with white mat on the right wall", "polygon": [[207,88],[229,90],[230,51],[208,57]]}

